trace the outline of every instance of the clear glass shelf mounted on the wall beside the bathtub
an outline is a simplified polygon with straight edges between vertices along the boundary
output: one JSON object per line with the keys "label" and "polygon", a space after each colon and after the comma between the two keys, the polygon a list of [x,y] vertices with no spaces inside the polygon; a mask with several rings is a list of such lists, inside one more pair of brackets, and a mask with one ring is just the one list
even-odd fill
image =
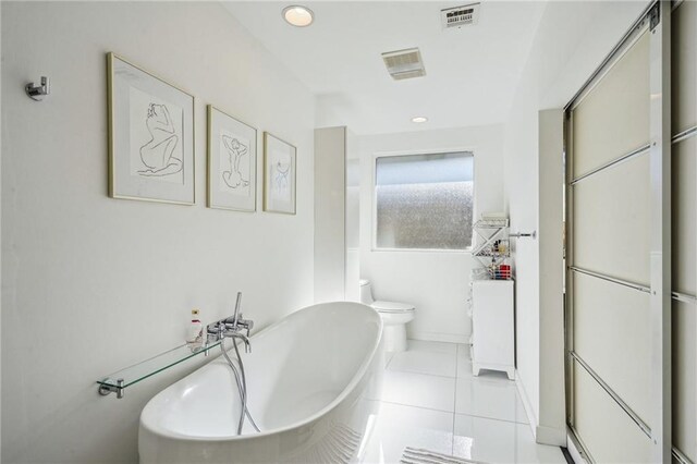
{"label": "clear glass shelf mounted on the wall beside the bathtub", "polygon": [[219,344],[220,340],[199,346],[184,344],[176,346],[173,350],[166,351],[164,353],[160,353],[149,359],[110,374],[101,380],[97,380],[97,383],[99,384],[99,393],[107,395],[113,392],[117,393],[117,398],[123,398],[123,390],[126,387],[131,387],[140,380],[156,375],[157,373],[169,369],[170,367],[191,357],[198,356],[199,354],[207,355],[211,349]]}

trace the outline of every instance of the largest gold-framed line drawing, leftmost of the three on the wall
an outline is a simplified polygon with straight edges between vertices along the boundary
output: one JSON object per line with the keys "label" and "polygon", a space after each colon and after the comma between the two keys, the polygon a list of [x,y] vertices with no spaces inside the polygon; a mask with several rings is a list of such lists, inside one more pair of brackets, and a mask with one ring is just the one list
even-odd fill
{"label": "largest gold-framed line drawing, leftmost of the three on the wall", "polygon": [[107,53],[109,196],[194,205],[194,96]]}

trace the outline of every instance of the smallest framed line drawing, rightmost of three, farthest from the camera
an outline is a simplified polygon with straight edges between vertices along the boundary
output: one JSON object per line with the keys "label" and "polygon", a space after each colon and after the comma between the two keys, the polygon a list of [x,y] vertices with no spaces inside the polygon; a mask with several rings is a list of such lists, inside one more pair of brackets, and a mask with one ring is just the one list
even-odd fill
{"label": "smallest framed line drawing, rightmost of three, farthest from the camera", "polygon": [[264,210],[295,215],[296,148],[264,133]]}

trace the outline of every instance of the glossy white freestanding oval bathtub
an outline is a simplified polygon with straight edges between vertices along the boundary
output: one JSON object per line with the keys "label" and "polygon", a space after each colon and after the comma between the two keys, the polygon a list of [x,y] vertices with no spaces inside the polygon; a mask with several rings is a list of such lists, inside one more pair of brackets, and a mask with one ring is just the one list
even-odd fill
{"label": "glossy white freestanding oval bathtub", "polygon": [[[140,414],[140,463],[348,463],[377,413],[382,322],[357,303],[301,309],[249,340],[247,408],[222,356],[155,395]],[[232,349],[232,341],[225,341]],[[234,353],[232,355],[234,359]]]}

